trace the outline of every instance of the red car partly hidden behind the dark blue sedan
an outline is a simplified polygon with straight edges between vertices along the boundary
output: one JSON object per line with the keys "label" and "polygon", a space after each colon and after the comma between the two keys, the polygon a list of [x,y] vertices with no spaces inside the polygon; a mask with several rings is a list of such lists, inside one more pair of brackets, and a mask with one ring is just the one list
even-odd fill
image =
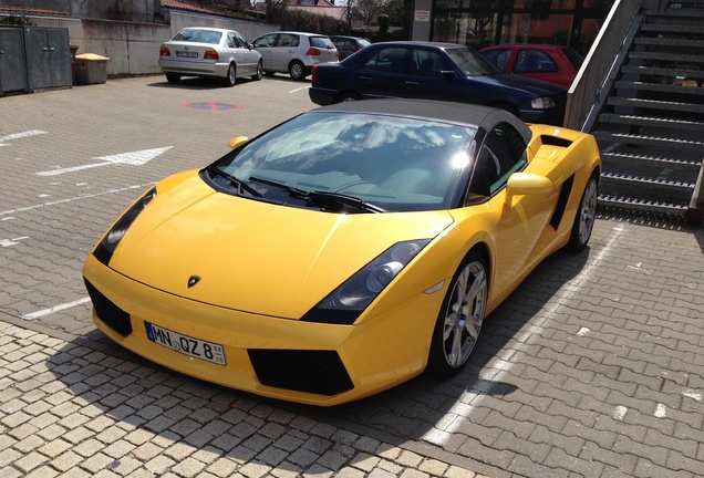
{"label": "red car partly hidden behind the dark blue sedan", "polygon": [[570,46],[504,44],[480,50],[504,73],[528,76],[569,90],[583,58]]}

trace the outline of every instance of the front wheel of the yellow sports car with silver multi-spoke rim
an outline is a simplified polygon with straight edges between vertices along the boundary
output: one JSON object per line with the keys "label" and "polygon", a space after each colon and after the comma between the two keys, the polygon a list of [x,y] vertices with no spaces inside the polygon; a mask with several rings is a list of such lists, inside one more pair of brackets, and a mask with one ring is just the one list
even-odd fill
{"label": "front wheel of the yellow sports car with silver multi-spoke rim", "polygon": [[486,260],[469,251],[453,277],[433,331],[427,367],[431,375],[447,377],[467,363],[486,314]]}

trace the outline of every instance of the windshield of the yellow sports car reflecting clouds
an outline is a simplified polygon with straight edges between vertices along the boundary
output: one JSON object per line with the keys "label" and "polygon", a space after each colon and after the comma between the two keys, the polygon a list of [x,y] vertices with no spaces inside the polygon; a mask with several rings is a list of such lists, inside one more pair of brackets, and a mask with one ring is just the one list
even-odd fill
{"label": "windshield of the yellow sports car reflecting clouds", "polygon": [[[358,212],[447,209],[456,198],[476,128],[384,114],[309,112],[209,167],[246,181],[260,196],[319,207],[321,194]],[[208,170],[208,169],[206,169]],[[221,176],[216,174],[215,176]],[[225,193],[239,188],[218,183]],[[327,208],[327,210],[333,210]]]}

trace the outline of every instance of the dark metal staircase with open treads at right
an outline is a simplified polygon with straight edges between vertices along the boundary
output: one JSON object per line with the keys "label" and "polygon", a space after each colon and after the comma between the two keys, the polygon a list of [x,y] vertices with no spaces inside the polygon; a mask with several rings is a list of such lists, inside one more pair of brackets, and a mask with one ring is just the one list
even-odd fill
{"label": "dark metal staircase with open treads at right", "polygon": [[591,128],[600,208],[686,218],[704,159],[704,1],[644,11]]}

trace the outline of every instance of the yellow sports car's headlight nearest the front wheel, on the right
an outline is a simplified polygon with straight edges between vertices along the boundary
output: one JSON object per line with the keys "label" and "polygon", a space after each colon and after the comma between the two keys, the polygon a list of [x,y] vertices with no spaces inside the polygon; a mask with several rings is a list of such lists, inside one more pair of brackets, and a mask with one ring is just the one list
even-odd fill
{"label": "yellow sports car's headlight nearest the front wheel, on the right", "polygon": [[398,242],[348,279],[301,320],[352,324],[431,240]]}

